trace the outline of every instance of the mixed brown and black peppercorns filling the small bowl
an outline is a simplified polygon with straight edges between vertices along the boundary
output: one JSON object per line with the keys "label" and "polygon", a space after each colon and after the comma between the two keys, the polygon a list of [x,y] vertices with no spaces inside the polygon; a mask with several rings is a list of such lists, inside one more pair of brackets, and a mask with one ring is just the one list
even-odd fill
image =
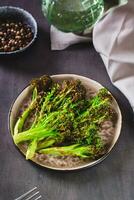
{"label": "mixed brown and black peppercorns filling the small bowl", "polygon": [[33,38],[31,28],[22,22],[0,23],[0,52],[11,52],[24,48]]}

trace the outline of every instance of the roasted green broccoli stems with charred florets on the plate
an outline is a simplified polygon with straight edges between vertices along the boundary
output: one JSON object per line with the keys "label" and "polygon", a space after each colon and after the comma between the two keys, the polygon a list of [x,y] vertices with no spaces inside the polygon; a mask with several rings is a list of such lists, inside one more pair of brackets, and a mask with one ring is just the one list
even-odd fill
{"label": "roasted green broccoli stems with charred florets on the plate", "polygon": [[49,76],[34,79],[30,87],[30,103],[18,117],[13,136],[16,145],[27,144],[26,159],[35,153],[82,159],[103,155],[105,144],[98,132],[115,114],[107,89],[89,99],[79,80],[57,83]]}

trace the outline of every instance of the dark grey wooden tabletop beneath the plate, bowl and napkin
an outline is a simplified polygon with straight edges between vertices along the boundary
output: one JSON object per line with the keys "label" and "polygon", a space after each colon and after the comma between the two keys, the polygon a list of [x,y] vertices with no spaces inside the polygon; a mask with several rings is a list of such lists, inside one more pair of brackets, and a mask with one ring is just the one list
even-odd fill
{"label": "dark grey wooden tabletop beneath the plate, bowl and napkin", "polygon": [[[38,186],[43,200],[133,200],[134,123],[125,97],[111,84],[92,44],[51,51],[49,25],[40,0],[1,0],[0,6],[22,7],[38,22],[34,46],[16,56],[0,57],[0,200],[13,200]],[[8,131],[8,111],[14,98],[33,77],[75,73],[99,81],[116,97],[123,114],[119,142],[101,164],[86,170],[57,172],[26,161]]]}

